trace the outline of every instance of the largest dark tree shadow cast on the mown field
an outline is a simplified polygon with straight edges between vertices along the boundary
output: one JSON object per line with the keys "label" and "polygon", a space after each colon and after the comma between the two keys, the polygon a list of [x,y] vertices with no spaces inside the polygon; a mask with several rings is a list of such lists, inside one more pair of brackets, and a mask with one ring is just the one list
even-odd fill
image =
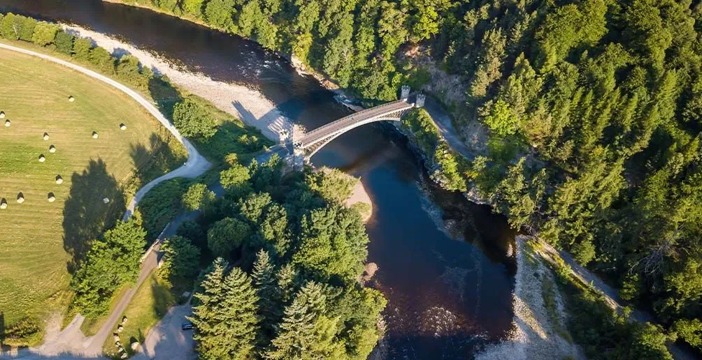
{"label": "largest dark tree shadow cast on the mown field", "polygon": [[[63,207],[63,248],[71,255],[68,271],[77,270],[90,244],[112,228],[126,209],[117,180],[102,159],[90,160],[82,174],[71,176],[71,191]],[[104,199],[110,201],[105,204]]]}

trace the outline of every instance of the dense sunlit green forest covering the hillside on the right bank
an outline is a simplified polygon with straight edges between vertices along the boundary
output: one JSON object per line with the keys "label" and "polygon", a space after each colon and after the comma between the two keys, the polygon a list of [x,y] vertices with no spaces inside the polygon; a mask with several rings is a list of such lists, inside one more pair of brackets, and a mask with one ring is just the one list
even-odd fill
{"label": "dense sunlit green forest covering the hillside on the right bank", "polygon": [[465,85],[457,127],[489,134],[449,187],[477,189],[702,349],[700,1],[151,1],[362,99],[428,83],[402,56],[428,48]]}

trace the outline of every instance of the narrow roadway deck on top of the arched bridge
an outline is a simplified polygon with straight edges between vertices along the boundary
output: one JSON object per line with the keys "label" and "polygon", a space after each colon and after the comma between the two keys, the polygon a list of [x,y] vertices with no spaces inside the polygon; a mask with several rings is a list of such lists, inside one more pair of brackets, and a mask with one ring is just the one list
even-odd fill
{"label": "narrow roadway deck on top of the arched bridge", "polygon": [[395,113],[396,111],[409,109],[412,106],[413,104],[407,102],[406,99],[401,99],[395,102],[388,102],[388,104],[375,106],[371,109],[358,111],[357,113],[352,113],[349,116],[345,116],[343,118],[340,118],[339,120],[332,121],[331,123],[322,125],[320,127],[317,127],[317,129],[307,132],[307,134],[305,134],[305,136],[303,136],[303,138],[300,139],[298,142],[301,144],[302,148],[306,148],[307,146],[315,144],[317,143],[317,141],[325,139],[326,137],[329,137],[340,130],[350,127],[355,123],[361,123],[362,121],[369,120],[372,118],[380,118],[383,115],[388,115],[390,113]]}

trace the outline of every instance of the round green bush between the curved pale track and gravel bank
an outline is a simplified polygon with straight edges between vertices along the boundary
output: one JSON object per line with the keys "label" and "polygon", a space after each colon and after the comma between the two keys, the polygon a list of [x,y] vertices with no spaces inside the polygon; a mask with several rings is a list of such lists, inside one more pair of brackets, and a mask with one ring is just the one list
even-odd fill
{"label": "round green bush between the curved pale track and gravel bank", "polygon": [[208,139],[217,132],[215,120],[210,113],[191,99],[173,106],[173,125],[184,137]]}

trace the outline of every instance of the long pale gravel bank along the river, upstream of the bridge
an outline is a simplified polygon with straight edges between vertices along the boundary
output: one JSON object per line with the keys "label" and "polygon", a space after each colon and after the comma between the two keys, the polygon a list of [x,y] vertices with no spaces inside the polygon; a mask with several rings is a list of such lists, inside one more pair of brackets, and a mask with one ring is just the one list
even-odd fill
{"label": "long pale gravel bank along the river, upstream of the bridge", "polygon": [[[212,102],[218,109],[244,120],[247,125],[258,128],[265,137],[273,141],[285,140],[281,134],[282,130],[286,130],[287,134],[292,134],[291,121],[283,116],[275,104],[256,90],[242,85],[214,81],[201,73],[177,69],[168,60],[157,54],[99,32],[73,25],[64,25],[64,28],[76,36],[91,39],[96,45],[105,48],[110,53],[129,53],[138,57],[145,67],[150,67],[154,72],[168,76],[180,88]],[[116,52],[117,49],[119,51]]]}

